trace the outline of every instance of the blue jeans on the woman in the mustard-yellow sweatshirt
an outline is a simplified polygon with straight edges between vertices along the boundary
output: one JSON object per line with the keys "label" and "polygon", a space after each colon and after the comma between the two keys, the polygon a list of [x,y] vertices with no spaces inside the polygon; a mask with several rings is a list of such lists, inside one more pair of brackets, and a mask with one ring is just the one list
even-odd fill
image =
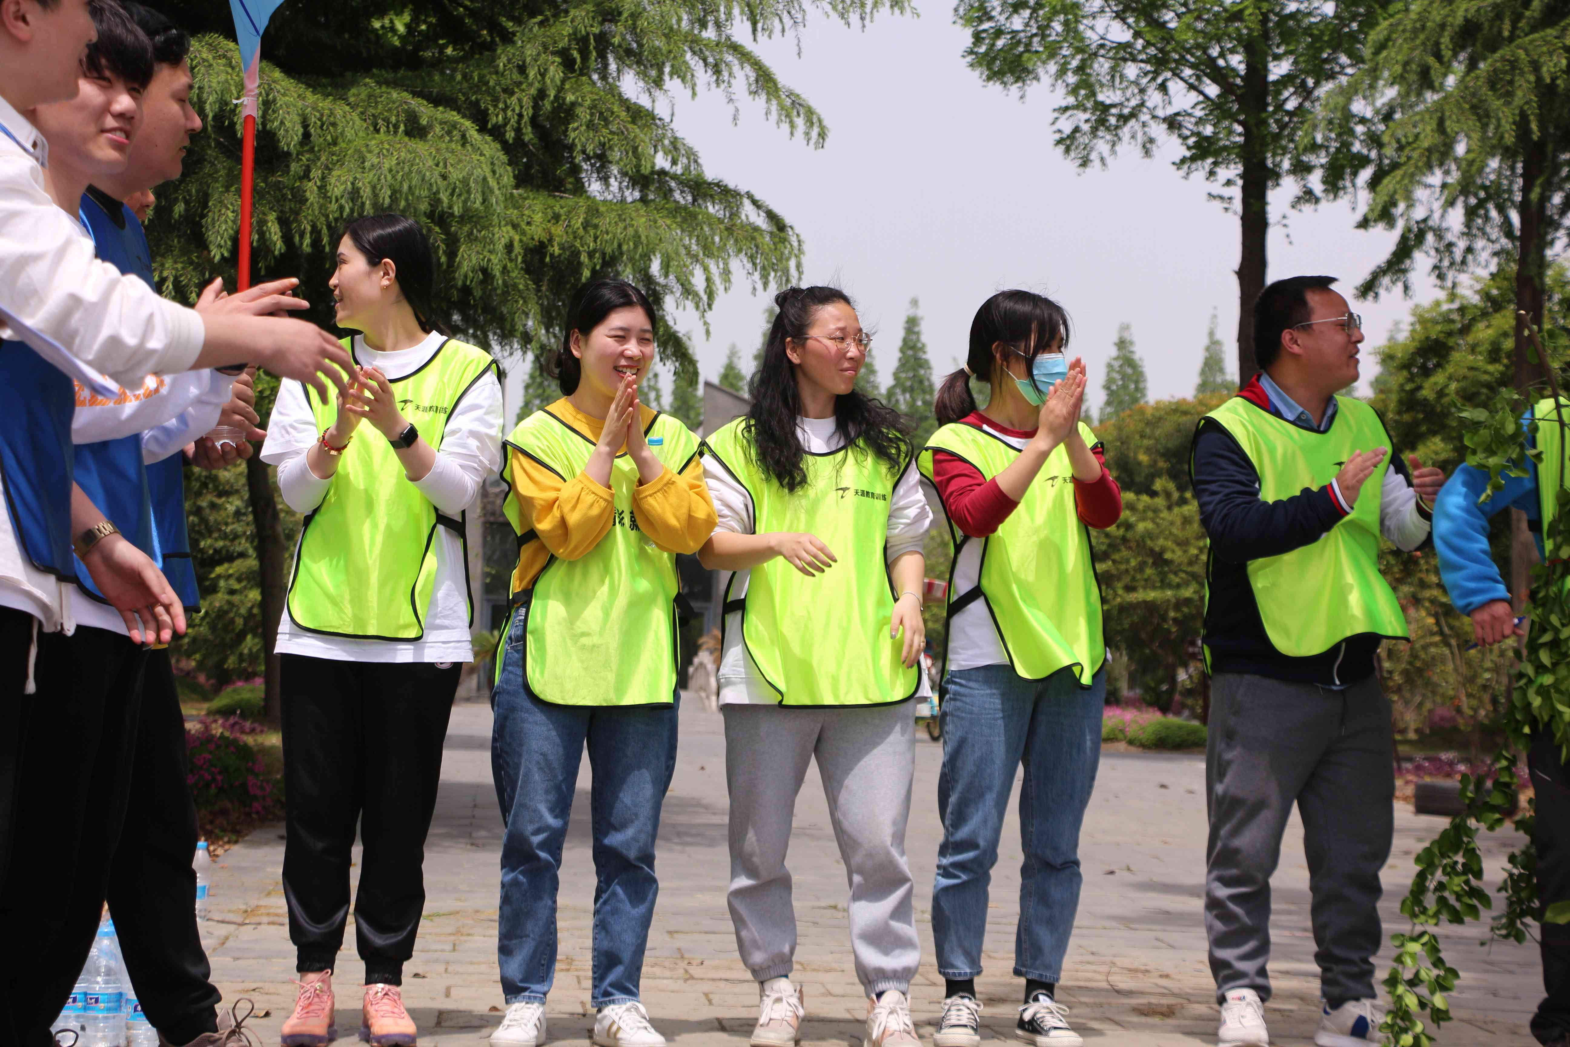
{"label": "blue jeans on the woman in the mustard-yellow sweatshirt", "polygon": [[491,692],[491,772],[501,804],[498,961],[507,1003],[543,1001],[556,981],[556,890],[562,841],[589,747],[593,769],[595,1008],[637,1000],[659,881],[659,805],[677,764],[677,705],[573,706],[534,697],[515,622]]}

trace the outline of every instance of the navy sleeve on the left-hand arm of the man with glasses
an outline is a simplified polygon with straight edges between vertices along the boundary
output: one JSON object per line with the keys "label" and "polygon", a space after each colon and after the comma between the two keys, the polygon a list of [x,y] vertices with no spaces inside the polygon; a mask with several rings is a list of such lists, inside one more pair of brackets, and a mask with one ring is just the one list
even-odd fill
{"label": "navy sleeve on the left-hand arm of the man with glasses", "polygon": [[1345,513],[1330,487],[1259,498],[1259,474],[1220,425],[1201,422],[1193,443],[1193,496],[1210,549],[1231,564],[1281,556],[1319,542]]}

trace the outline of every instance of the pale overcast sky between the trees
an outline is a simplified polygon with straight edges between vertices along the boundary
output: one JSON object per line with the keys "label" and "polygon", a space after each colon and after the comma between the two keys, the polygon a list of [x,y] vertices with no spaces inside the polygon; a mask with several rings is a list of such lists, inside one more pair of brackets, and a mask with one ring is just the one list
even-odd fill
{"label": "pale overcast sky between the trees", "polygon": [[[1170,148],[1079,171],[1052,146],[1052,93],[1036,88],[1022,102],[981,83],[964,63],[967,39],[951,5],[928,0],[920,17],[881,16],[865,31],[815,17],[799,57],[794,39],[763,41],[763,60],[827,121],[823,149],[772,127],[746,99],[735,122],[717,93],[680,96],[670,111],[711,177],[757,193],[802,235],[804,281],[849,292],[878,333],[884,381],[912,297],[937,380],[962,359],[981,301],[1027,287],[1069,311],[1071,353],[1085,356],[1097,411],[1124,322],[1151,399],[1190,396],[1212,311],[1236,359],[1237,218],[1207,199],[1221,190],[1184,179]],[[1345,202],[1291,212],[1289,196],[1284,188],[1272,199],[1270,278],[1328,273],[1350,297],[1393,234],[1360,232]],[[730,342],[750,359],[774,290],[755,294],[736,272],[708,336],[696,312],[669,317],[692,334],[705,378],[719,375]],[[1416,287],[1418,300],[1435,294],[1426,279]],[[1353,301],[1366,345],[1377,347],[1411,305],[1400,294]],[[1371,377],[1369,361],[1364,389]],[[517,386],[517,369],[510,378]]]}

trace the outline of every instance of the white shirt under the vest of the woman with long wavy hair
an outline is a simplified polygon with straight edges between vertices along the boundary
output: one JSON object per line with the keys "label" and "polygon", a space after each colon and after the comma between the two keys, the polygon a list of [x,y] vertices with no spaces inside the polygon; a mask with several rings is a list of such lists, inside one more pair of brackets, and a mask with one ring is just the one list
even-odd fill
{"label": "white shirt under the vest of the woman with long wavy hair", "polygon": [[[845,446],[832,418],[798,418],[796,432],[809,454],[834,454]],[[713,457],[703,458],[703,482],[708,483],[710,498],[714,499],[716,531],[757,534],[752,496]],[[922,476],[912,461],[900,474],[893,485],[893,494],[889,496],[885,560],[893,564],[906,553],[920,553],[926,542],[926,529],[931,526],[933,510],[922,494]],[[728,592],[732,600],[739,600],[747,592],[749,576],[750,571],[735,571],[735,581],[732,581],[730,571],[725,571],[721,575],[721,592]],[[719,703],[779,705],[779,694],[765,683],[763,673],[752,664],[752,656],[747,655],[747,647],[741,642],[741,612],[732,611],[725,615],[725,647],[719,659]]]}

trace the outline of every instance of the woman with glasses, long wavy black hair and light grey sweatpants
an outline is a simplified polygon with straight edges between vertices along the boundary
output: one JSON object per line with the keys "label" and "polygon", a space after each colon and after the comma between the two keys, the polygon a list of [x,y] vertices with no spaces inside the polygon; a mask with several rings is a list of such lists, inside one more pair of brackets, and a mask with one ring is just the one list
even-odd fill
{"label": "woman with glasses, long wavy black hair and light grey sweatpants", "polygon": [[931,510],[900,416],[856,389],[870,337],[834,287],[791,287],[744,418],[711,435],[719,527],[699,553],[732,571],[719,705],[730,791],[730,918],[760,986],[754,1047],[801,1038],[791,815],[816,758],[851,887],[868,1047],[915,1047],[920,961],[904,826]]}

